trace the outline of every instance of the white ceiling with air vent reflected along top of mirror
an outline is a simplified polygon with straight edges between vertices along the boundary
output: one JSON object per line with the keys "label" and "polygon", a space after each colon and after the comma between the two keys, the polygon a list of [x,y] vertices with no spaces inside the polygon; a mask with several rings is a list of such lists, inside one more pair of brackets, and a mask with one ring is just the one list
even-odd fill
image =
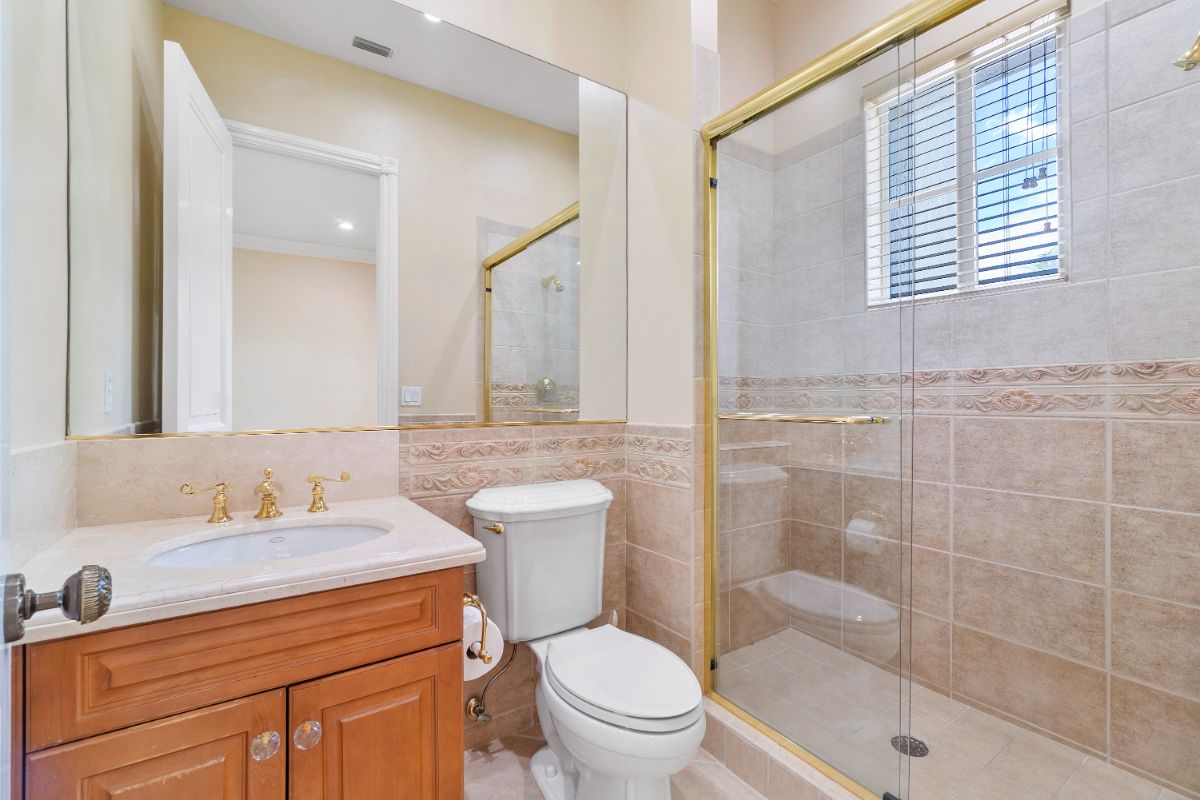
{"label": "white ceiling with air vent reflected along top of mirror", "polygon": [[[166,0],[341,61],[578,134],[574,73],[431,22],[395,0]],[[355,36],[392,48],[391,58],[350,44]]]}

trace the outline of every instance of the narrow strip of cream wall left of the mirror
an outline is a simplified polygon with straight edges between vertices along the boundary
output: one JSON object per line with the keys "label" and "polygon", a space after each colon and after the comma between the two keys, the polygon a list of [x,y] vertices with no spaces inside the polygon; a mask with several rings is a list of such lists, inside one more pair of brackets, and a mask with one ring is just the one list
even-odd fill
{"label": "narrow strip of cream wall left of the mirror", "polygon": [[12,445],[61,439],[66,417],[67,170],[64,5],[12,4]]}

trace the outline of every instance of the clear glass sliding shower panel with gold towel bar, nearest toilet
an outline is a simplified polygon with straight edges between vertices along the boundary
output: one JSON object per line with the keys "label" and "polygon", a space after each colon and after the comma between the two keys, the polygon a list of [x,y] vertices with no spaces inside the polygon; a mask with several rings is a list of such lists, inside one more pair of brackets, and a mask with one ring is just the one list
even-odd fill
{"label": "clear glass sliding shower panel with gold towel bar, nearest toilet", "polygon": [[898,64],[883,53],[716,145],[713,686],[901,798],[912,308],[868,302],[868,169],[887,131],[864,114],[895,95]]}

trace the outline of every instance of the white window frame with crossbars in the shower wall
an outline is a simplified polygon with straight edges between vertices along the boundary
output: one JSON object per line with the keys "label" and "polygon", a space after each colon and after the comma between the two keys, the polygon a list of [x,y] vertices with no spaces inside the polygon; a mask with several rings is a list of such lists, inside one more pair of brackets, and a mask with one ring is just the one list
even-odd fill
{"label": "white window frame with crossbars in the shower wall", "polygon": [[[1067,180],[1067,53],[1064,49],[1066,20],[1061,14],[1049,14],[1013,31],[997,37],[982,47],[925,70],[914,80],[900,86],[893,86],[875,97],[864,101],[863,119],[866,128],[866,305],[868,307],[892,306],[900,302],[920,302],[938,300],[947,296],[978,291],[1002,291],[1031,283],[1062,282],[1067,279],[1067,241],[1069,191]],[[1056,85],[1056,146],[1040,150],[988,169],[974,170],[976,130],[974,130],[974,70],[980,64],[990,61],[1007,52],[1019,50],[1031,42],[1048,35],[1055,37],[1055,79]],[[954,176],[936,187],[923,190],[902,200],[889,200],[888,168],[890,152],[888,150],[888,114],[887,108],[906,98],[913,98],[920,91],[954,77],[954,132],[955,132],[955,170]],[[1054,157],[1056,160],[1055,198],[1057,203],[1058,230],[1058,270],[1054,275],[1038,275],[1025,278],[1013,278],[989,284],[978,283],[978,239],[976,231],[976,186],[979,181],[1009,173],[1033,163]],[[928,291],[917,295],[901,294],[890,296],[890,260],[888,254],[888,212],[912,205],[941,194],[955,192],[955,239],[956,239],[956,285],[953,288]]]}

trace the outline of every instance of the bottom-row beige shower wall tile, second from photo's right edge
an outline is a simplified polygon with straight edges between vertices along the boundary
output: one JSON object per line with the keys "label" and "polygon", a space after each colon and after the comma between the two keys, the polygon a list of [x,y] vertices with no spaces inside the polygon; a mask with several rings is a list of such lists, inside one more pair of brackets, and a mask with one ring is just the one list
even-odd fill
{"label": "bottom-row beige shower wall tile, second from photo's right edge", "polygon": [[1104,673],[954,626],[956,693],[1087,747],[1105,747]]}

